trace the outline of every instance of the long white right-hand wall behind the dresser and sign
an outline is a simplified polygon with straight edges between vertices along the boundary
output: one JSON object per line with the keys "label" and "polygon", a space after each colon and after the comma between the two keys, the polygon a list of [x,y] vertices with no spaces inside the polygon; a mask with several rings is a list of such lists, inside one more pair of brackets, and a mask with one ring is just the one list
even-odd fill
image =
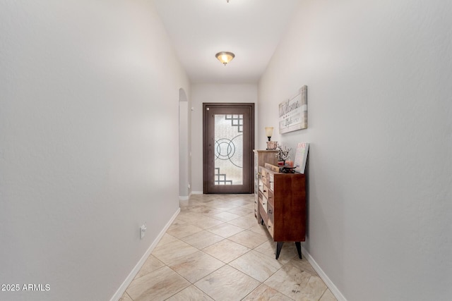
{"label": "long white right-hand wall behind the dresser and sign", "polygon": [[302,1],[259,82],[258,128],[308,86],[309,128],[273,140],[311,143],[304,247],[347,300],[452,295],[451,13]]}

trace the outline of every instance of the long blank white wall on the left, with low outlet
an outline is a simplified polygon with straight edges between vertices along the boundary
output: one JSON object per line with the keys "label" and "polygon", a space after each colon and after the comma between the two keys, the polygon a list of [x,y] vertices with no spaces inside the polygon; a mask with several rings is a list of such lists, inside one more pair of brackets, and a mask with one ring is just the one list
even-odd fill
{"label": "long blank white wall on the left, with low outlet", "polygon": [[152,1],[0,1],[0,283],[50,285],[0,300],[109,300],[177,212],[174,58]]}

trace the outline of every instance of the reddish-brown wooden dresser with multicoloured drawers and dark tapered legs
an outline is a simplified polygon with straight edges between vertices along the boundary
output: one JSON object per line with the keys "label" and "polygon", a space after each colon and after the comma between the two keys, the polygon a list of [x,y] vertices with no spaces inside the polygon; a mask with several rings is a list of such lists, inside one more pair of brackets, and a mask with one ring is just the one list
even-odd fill
{"label": "reddish-brown wooden dresser with multicoloured drawers and dark tapered legs", "polygon": [[270,171],[264,164],[258,166],[255,179],[258,187],[256,219],[266,226],[276,242],[276,259],[284,242],[295,242],[302,258],[300,242],[305,240],[307,219],[305,175]]}

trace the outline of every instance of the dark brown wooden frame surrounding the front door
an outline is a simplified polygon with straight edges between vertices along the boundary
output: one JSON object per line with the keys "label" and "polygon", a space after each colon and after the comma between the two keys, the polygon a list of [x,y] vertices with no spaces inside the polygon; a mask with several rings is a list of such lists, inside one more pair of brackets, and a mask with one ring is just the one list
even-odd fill
{"label": "dark brown wooden frame surrounding the front door", "polygon": [[[250,128],[250,149],[249,154],[243,154],[244,156],[244,167],[245,164],[248,167],[249,175],[244,176],[244,178],[249,179],[246,185],[246,191],[242,192],[234,192],[234,191],[226,191],[226,192],[209,192],[208,189],[208,154],[209,154],[209,143],[208,143],[208,108],[241,108],[241,109],[249,109],[249,128]],[[254,103],[252,102],[204,102],[203,103],[203,193],[254,193]],[[245,168],[244,168],[245,171]],[[213,180],[213,179],[212,179]]]}

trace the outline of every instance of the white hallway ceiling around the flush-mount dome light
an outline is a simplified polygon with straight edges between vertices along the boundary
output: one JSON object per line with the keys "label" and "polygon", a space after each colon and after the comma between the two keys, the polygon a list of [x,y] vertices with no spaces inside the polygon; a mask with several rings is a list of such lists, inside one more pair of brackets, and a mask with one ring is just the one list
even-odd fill
{"label": "white hallway ceiling around the flush-mount dome light", "polygon": [[[193,83],[256,83],[300,0],[153,0]],[[215,58],[235,54],[227,66]]]}

